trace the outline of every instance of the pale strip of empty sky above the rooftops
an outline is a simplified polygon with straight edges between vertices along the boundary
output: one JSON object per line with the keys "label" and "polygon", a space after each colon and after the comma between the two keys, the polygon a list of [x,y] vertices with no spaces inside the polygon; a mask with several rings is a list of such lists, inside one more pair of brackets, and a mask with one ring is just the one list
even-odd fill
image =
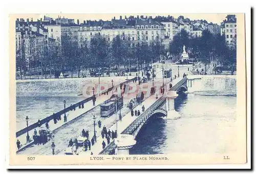
{"label": "pale strip of empty sky above the rooftops", "polygon": [[138,14],[138,13],[128,13],[128,14],[125,14],[125,13],[119,13],[119,14],[112,14],[112,13],[106,13],[106,14],[100,14],[100,13],[95,13],[95,14],[19,14],[17,15],[16,18],[29,18],[29,20],[31,19],[31,17],[33,17],[33,20],[37,20],[37,19],[40,19],[40,18],[43,18],[44,19],[44,15],[46,16],[49,16],[49,17],[52,17],[52,18],[57,18],[58,16],[61,16],[61,18],[63,16],[65,16],[65,18],[72,18],[72,19],[75,19],[75,23],[77,21],[77,19],[79,19],[80,23],[83,23],[83,20],[99,20],[99,19],[102,19],[102,20],[111,20],[114,16],[116,17],[116,19],[119,19],[119,16],[122,15],[122,18],[124,18],[124,16],[126,15],[127,17],[129,17],[130,15],[133,15],[133,16],[137,16],[137,15],[144,15],[144,16],[153,16],[153,18],[155,16],[174,16],[175,18],[177,18],[178,16],[182,15],[184,16],[184,18],[189,18],[190,20],[195,20],[195,19],[205,19],[209,22],[212,22],[214,24],[218,24],[220,25],[220,23],[225,19],[225,17],[227,16],[227,13],[141,13],[141,14]]}

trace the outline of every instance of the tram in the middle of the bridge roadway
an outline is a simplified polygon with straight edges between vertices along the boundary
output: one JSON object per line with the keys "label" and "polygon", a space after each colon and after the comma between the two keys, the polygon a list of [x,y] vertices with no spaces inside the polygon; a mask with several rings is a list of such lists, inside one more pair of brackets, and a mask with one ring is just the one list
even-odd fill
{"label": "tram in the middle of the bridge roadway", "polygon": [[[115,111],[120,110],[123,106],[123,97],[118,97],[118,95],[113,94],[110,99],[106,100],[100,105],[100,116],[108,117],[115,113]],[[117,110],[116,110],[117,107]]]}

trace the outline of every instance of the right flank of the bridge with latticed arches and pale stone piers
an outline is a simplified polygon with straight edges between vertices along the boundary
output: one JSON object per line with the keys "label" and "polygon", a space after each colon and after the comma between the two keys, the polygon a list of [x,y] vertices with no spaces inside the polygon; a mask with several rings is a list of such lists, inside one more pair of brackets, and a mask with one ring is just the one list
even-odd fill
{"label": "right flank of the bridge with latticed arches and pale stone piers", "polygon": [[[160,89],[158,89],[158,98],[153,95],[142,102],[145,106],[145,111],[140,116],[132,118],[130,116],[131,112],[125,115],[124,118],[130,118],[125,121],[127,126],[122,124],[122,121],[118,121],[118,124],[122,125],[118,128],[118,137],[100,151],[99,155],[129,155],[129,149],[136,144],[135,138],[148,119],[158,117],[166,117],[167,119],[179,118],[179,113],[174,109],[174,99],[178,96],[178,91],[187,90],[187,78],[177,78],[172,83],[175,83],[175,85],[171,89],[169,89],[169,83],[165,84],[165,89],[169,90],[164,94],[160,94]],[[129,121],[130,123],[128,123]]]}

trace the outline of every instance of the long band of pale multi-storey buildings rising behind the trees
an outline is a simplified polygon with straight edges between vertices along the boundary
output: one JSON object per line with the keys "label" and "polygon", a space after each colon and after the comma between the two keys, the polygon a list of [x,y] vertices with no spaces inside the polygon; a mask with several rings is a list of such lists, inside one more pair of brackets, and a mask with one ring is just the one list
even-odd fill
{"label": "long band of pale multi-storey buildings rising behind the trees", "polygon": [[[71,36],[72,39],[90,40],[95,34],[103,36],[106,41],[113,41],[117,35],[122,40],[131,42],[136,41],[153,41],[153,40],[172,40],[173,37],[182,29],[187,31],[190,37],[202,36],[203,30],[208,30],[211,33],[218,33],[220,26],[217,24],[208,23],[206,20],[190,20],[179,16],[129,16],[119,19],[115,17],[110,21],[103,20],[84,20],[75,23],[74,19],[58,17],[55,20],[45,16],[44,19],[37,21],[23,18],[16,20],[16,35],[23,37],[24,35],[34,35],[49,40],[49,38],[61,41],[63,36]],[[230,25],[229,25],[230,26]],[[232,30],[232,29],[231,29]],[[229,30],[230,32],[230,30]]]}

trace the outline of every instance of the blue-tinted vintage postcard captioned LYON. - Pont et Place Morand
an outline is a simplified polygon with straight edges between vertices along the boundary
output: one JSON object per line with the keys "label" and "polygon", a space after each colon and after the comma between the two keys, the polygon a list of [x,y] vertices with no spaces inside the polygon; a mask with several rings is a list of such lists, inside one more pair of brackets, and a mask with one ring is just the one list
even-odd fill
{"label": "blue-tinted vintage postcard captioned LYON. - Pont et Place Morand", "polygon": [[10,14],[10,165],[244,164],[245,14]]}

